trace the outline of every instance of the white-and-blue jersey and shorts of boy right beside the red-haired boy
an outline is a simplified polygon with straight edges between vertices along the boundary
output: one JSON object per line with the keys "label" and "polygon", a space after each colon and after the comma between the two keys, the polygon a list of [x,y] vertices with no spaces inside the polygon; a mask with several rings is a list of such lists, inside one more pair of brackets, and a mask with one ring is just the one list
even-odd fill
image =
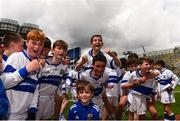
{"label": "white-and-blue jersey and shorts of boy right beside the red-haired boy", "polygon": [[38,77],[40,96],[36,119],[49,119],[54,113],[55,92],[57,90],[60,92],[65,90],[65,88],[62,88],[62,85],[65,85],[63,78],[68,66],[63,63],[57,65],[51,64],[49,62],[51,58],[52,57],[48,57],[45,59],[45,66]]}

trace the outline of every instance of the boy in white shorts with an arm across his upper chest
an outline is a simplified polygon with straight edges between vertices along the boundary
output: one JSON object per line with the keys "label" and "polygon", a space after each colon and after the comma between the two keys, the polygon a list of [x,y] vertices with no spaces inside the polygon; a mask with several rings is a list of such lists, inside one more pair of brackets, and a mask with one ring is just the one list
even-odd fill
{"label": "boy in white shorts with an arm across his upper chest", "polygon": [[132,72],[127,84],[122,88],[130,89],[128,94],[129,114],[128,119],[133,120],[136,113],[139,120],[145,119],[147,112],[147,98],[156,92],[155,77],[158,72],[151,72],[151,59],[140,58],[139,69]]}

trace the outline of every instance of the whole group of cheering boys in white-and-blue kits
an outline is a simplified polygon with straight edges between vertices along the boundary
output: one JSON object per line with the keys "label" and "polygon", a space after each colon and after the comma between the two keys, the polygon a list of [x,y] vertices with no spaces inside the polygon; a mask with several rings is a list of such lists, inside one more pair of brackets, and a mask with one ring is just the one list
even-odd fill
{"label": "whole group of cheering boys in white-and-blue kits", "polygon": [[90,43],[70,69],[65,41],[56,40],[51,49],[44,33],[32,30],[23,49],[21,36],[7,33],[0,63],[0,119],[66,120],[64,111],[72,100],[67,120],[120,120],[126,109],[128,120],[146,119],[148,111],[157,120],[160,100],[164,119],[175,120],[171,104],[179,79],[163,60],[132,53],[126,67],[116,52],[101,50],[101,35],[93,35]]}

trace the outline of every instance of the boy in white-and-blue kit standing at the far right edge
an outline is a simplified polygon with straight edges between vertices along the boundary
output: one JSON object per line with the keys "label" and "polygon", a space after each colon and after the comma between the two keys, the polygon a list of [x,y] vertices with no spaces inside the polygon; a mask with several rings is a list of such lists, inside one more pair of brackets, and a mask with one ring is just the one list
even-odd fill
{"label": "boy in white-and-blue kit standing at the far right edge", "polygon": [[160,84],[160,102],[164,106],[164,120],[175,120],[171,104],[175,103],[173,90],[178,84],[179,78],[171,70],[165,68],[165,62],[163,60],[156,62],[156,69],[161,73],[157,80]]}

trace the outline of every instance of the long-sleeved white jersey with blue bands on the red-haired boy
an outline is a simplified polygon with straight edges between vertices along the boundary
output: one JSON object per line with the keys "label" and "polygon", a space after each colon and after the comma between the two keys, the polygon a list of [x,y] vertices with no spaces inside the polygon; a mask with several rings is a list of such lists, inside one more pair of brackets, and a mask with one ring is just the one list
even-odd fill
{"label": "long-sleeved white jersey with blue bands on the red-haired boy", "polygon": [[7,60],[1,79],[9,99],[9,119],[24,120],[27,111],[36,112],[38,102],[37,71],[28,73],[26,65],[31,61],[25,51],[13,53]]}

